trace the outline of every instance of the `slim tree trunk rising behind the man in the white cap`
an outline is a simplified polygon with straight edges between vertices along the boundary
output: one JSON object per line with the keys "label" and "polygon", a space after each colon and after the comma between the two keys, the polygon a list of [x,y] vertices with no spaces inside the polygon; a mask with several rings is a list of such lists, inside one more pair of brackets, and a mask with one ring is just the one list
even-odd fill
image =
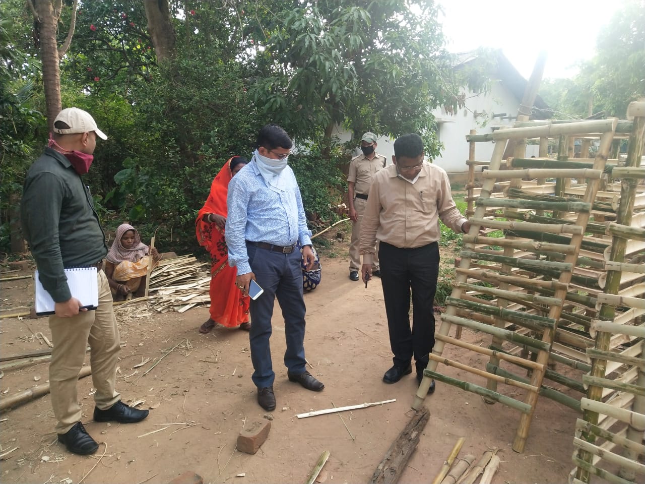
{"label": "slim tree trunk rising behind the man in the white cap", "polygon": [[60,2],[55,12],[54,1],[32,0],[37,14],[41,59],[43,61],[43,85],[45,86],[45,104],[47,106],[47,123],[49,130],[54,128],[54,119],[61,112],[61,71],[58,61],[58,46],[56,44],[57,12],[60,12]]}

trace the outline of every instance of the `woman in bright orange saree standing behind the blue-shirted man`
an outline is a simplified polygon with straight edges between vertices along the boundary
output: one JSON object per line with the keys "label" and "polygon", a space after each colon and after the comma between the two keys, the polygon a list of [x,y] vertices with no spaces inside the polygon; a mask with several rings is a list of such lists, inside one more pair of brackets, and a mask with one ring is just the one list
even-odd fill
{"label": "woman in bright orange saree standing behind the blue-shirted man", "polygon": [[213,179],[208,199],[195,220],[197,241],[208,250],[212,260],[210,318],[199,328],[199,332],[204,334],[217,323],[228,328],[250,329],[249,297],[235,285],[237,268],[228,265],[228,247],[224,240],[228,183],[246,163],[246,158],[241,156],[233,156],[224,163]]}

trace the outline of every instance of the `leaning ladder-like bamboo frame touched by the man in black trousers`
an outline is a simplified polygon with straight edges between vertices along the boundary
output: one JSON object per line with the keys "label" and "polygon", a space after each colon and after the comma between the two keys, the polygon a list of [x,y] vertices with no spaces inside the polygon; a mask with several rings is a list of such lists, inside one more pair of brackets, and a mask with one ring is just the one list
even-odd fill
{"label": "leaning ladder-like bamboo frame touched by the man in black trousers", "polygon": [[[542,380],[548,374],[546,371],[546,363],[550,359],[551,346],[555,341],[555,336],[558,334],[560,338],[564,338],[566,341],[577,342],[583,348],[582,353],[580,351],[578,353],[583,355],[586,342],[591,341],[588,338],[581,338],[575,332],[571,332],[570,329],[564,333],[557,332],[556,322],[559,321],[561,314],[566,313],[568,320],[581,321],[587,326],[591,325],[591,318],[585,318],[584,314],[571,312],[570,303],[567,303],[566,310],[564,308],[568,296],[567,288],[573,279],[574,270],[576,270],[575,281],[578,283],[591,283],[595,281],[597,285],[597,277],[595,277],[597,272],[580,272],[577,264],[580,259],[582,261],[585,260],[584,257],[579,257],[579,253],[582,242],[585,239],[584,234],[590,220],[591,212],[592,210],[597,210],[595,194],[599,188],[600,177],[604,172],[605,162],[608,158],[617,123],[617,120],[611,119],[579,123],[548,124],[498,130],[491,135],[491,138],[496,141],[493,156],[491,157],[489,170],[482,174],[484,182],[480,197],[475,204],[473,217],[470,219],[470,233],[468,236],[464,236],[464,250],[461,254],[459,268],[457,268],[455,287],[453,288],[452,297],[446,301],[446,314],[442,318],[442,323],[436,338],[437,341],[433,348],[433,354],[430,357],[428,367],[424,371],[424,378],[421,381],[421,385],[419,385],[419,390],[412,405],[413,408],[418,409],[421,407],[430,387],[430,378],[435,378],[439,381],[461,387],[464,390],[475,392],[484,396],[488,401],[500,401],[504,405],[516,408],[521,412],[521,422],[517,430],[515,442],[513,443],[513,450],[517,452],[524,450],[531,418],[539,395],[539,391],[537,390],[542,390]],[[584,166],[582,168],[575,168],[567,166],[563,168],[527,168],[525,170],[504,171],[499,169],[502,164],[502,154],[504,153],[508,140],[513,140],[515,143],[513,150],[515,157],[523,159],[523,153],[526,150],[524,139],[527,137],[546,139],[548,137],[571,136],[571,139],[573,139],[575,136],[596,133],[601,133],[600,147],[598,155],[594,159],[591,167]],[[473,136],[477,135],[471,134],[469,141],[479,141],[473,139]],[[500,199],[492,196],[493,188],[496,188],[496,181],[511,179],[511,189],[520,190],[522,188],[521,178],[526,176],[535,178],[562,177],[563,179],[576,177],[578,179],[585,179],[588,183],[582,197],[577,196],[576,199],[569,197],[569,199],[556,199],[554,201],[552,196],[548,200],[540,198],[528,199],[524,196],[517,196],[512,199]],[[501,217],[499,214],[501,207],[505,207],[506,210],[517,215],[522,214],[525,210],[541,210],[542,212],[556,211],[563,214],[571,214],[573,223],[570,223],[570,221],[553,224],[546,221],[537,223],[491,220],[491,215],[497,219]],[[601,205],[599,208],[604,209],[606,207],[611,208],[611,205]],[[504,237],[500,239],[503,242],[499,244],[501,250],[485,248],[486,246],[490,246],[494,249],[496,244],[495,239],[479,235],[481,228],[487,228],[488,232],[492,230],[502,230],[504,232]],[[518,232],[524,232],[524,234],[518,234]],[[560,247],[546,246],[546,248],[552,249],[551,253],[553,254],[558,252],[554,249],[567,247],[566,252],[562,251],[560,253],[562,254],[564,252],[564,257],[560,257],[558,260],[546,261],[542,259],[543,256],[541,257],[539,255],[539,248],[541,248],[539,242],[537,242],[538,245],[533,245],[530,240],[524,243],[514,238],[521,237],[530,239],[531,237],[525,236],[526,233],[530,232],[539,232],[543,236],[560,237],[557,240],[545,240],[544,245],[559,245]],[[602,227],[597,228],[597,232],[602,232]],[[597,246],[597,252],[595,253],[600,255],[596,256],[595,260],[599,261],[596,265],[602,269],[603,263],[600,258],[602,257],[602,251],[606,248],[606,244],[598,243]],[[586,247],[593,248],[595,246],[593,244],[590,245],[588,242]],[[525,250],[526,252],[522,252]],[[548,251],[543,250],[543,252]],[[531,254],[533,254],[532,257]],[[593,259],[589,260],[591,261]],[[489,280],[495,279],[495,287],[473,287],[468,281],[469,277],[473,275],[471,271],[475,271],[473,274],[488,274],[490,277]],[[589,276],[586,275],[587,273]],[[546,276],[544,277],[546,280],[541,280],[542,274]],[[517,286],[513,285],[513,278],[517,278],[517,282],[519,283],[531,281],[534,284],[530,286],[530,290],[524,290],[521,286],[518,289]],[[548,280],[550,278],[555,280]],[[545,287],[547,285],[549,288]],[[547,290],[549,292],[545,294],[544,291]],[[513,292],[517,292],[517,294],[513,295]],[[493,297],[493,301],[479,299],[475,296],[470,296],[471,294],[488,294],[488,299]],[[525,309],[522,310],[522,307]],[[544,313],[544,316],[540,316],[540,312]],[[491,326],[490,324],[478,322],[478,320],[485,320],[482,318],[482,314],[488,314],[484,318],[492,318],[494,325]],[[519,327],[525,327],[526,330],[505,329],[506,321],[509,318],[516,321],[516,324],[519,323]],[[480,354],[488,354],[490,358],[489,368],[499,368],[499,372],[497,370],[495,371],[496,374],[493,374],[488,369],[487,371],[473,371],[474,368],[465,367],[465,365],[461,365],[456,361],[441,358],[444,345],[455,344],[453,342],[458,341],[448,336],[453,324],[457,327],[466,326],[490,334],[491,338],[493,338],[493,346],[495,347],[501,347],[504,341],[511,341],[517,345],[532,348],[533,352],[537,354],[535,362],[531,362],[530,359],[513,356],[513,358],[519,358],[526,363],[536,364],[534,368],[531,368],[530,378],[513,378],[510,376],[510,373],[502,372],[501,368],[499,368],[501,361],[505,361],[506,364],[511,363],[517,365],[518,363],[516,361],[508,361],[499,352],[484,352],[482,351],[484,348],[479,348],[479,351],[475,350],[475,348],[464,349],[474,350]],[[534,336],[531,336],[531,334]],[[463,348],[462,345],[457,344],[457,346]],[[486,387],[442,374],[437,371],[439,362],[457,367],[460,370],[466,370],[466,372],[479,375],[480,377],[483,376],[486,379]],[[528,364],[520,364],[519,366],[528,367]],[[550,372],[549,376],[550,378],[555,378],[556,381],[564,381],[556,372]],[[524,401],[505,396],[497,391],[498,382],[508,384],[509,381],[514,382],[512,385],[526,390]],[[571,387],[575,386],[582,389],[581,383],[572,380],[568,381],[568,383]],[[571,397],[570,400],[575,401]],[[568,403],[575,406],[574,401],[569,401]]]}

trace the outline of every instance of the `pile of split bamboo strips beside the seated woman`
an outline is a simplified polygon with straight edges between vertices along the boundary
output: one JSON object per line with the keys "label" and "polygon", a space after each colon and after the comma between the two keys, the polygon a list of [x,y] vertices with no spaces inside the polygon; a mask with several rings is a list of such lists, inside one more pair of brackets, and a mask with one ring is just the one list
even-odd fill
{"label": "pile of split bamboo strips beside the seated woman", "polygon": [[150,295],[115,305],[117,316],[144,317],[152,312],[184,312],[197,305],[209,305],[208,264],[192,255],[159,261],[150,276]]}

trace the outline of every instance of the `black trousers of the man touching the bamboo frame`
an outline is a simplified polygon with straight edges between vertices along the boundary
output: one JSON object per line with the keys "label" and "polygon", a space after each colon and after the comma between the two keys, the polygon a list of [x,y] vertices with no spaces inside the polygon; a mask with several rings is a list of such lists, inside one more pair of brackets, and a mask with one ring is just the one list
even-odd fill
{"label": "black trousers of the man touching the bamboo frame", "polygon": [[393,362],[407,367],[414,356],[417,372],[422,372],[435,345],[433,306],[439,277],[439,245],[433,242],[423,247],[399,248],[381,242],[379,259]]}

